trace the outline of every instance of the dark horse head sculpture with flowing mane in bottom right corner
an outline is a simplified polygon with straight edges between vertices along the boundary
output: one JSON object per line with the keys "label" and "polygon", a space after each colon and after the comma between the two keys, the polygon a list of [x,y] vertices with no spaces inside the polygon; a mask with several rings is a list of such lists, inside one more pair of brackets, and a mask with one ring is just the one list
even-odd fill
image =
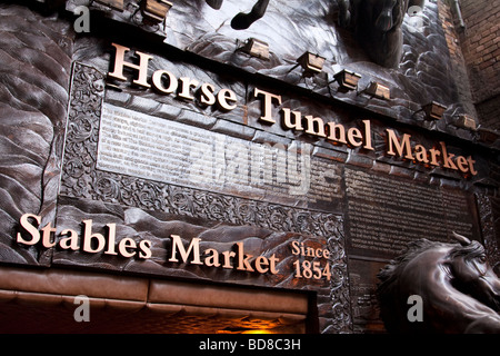
{"label": "dark horse head sculpture with flowing mane in bottom right corner", "polygon": [[[378,275],[380,315],[389,333],[500,333],[500,279],[478,241],[420,239]],[[421,320],[408,317],[410,296],[421,298]]]}

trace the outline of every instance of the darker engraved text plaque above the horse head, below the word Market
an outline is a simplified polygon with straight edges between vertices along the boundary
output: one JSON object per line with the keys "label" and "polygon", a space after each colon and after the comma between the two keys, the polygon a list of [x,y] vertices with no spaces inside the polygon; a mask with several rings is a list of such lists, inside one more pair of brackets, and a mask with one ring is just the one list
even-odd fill
{"label": "darker engraved text plaque above the horse head, below the word Market", "polygon": [[392,257],[419,238],[449,243],[451,231],[479,237],[463,192],[352,169],[346,186],[356,254]]}

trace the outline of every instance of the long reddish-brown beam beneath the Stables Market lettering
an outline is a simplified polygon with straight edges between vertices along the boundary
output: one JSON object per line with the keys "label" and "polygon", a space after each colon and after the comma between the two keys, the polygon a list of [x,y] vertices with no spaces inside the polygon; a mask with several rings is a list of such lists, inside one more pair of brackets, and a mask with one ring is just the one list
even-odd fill
{"label": "long reddish-brown beam beneath the Stables Market lettering", "polygon": [[64,269],[0,268],[0,303],[62,305],[74,308],[74,297],[89,297],[92,308],[164,314],[252,316],[301,319],[308,313],[308,296],[281,290],[252,289],[201,283],[143,279]]}

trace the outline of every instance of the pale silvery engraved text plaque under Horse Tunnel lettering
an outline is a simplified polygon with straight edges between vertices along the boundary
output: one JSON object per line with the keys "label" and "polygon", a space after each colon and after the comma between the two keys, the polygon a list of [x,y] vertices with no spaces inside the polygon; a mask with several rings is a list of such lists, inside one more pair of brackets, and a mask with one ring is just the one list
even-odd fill
{"label": "pale silvery engraved text plaque under Horse Tunnel lettering", "polygon": [[342,196],[340,168],[312,159],[309,144],[249,142],[109,103],[102,106],[97,168],[253,199]]}

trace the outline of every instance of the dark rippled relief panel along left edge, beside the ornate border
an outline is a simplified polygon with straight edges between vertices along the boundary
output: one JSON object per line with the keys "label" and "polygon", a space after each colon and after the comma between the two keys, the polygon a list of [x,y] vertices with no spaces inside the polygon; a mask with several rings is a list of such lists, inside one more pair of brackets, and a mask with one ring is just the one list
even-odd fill
{"label": "dark rippled relief panel along left edge, beside the ornate border", "polygon": [[49,256],[11,249],[24,212],[56,216],[72,39],[57,17],[0,4],[0,257],[47,264]]}

